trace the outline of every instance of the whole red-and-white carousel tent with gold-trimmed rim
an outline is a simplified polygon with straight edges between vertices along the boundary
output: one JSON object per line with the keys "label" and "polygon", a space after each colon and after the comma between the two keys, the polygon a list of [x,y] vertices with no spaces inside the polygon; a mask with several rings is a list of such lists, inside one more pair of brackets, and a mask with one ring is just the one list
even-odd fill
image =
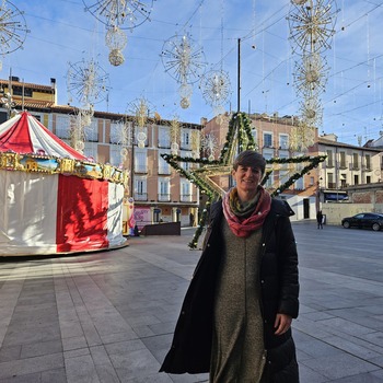
{"label": "whole red-and-white carousel tent with gold-trimmed rim", "polygon": [[124,246],[126,181],[18,114],[0,125],[0,256]]}

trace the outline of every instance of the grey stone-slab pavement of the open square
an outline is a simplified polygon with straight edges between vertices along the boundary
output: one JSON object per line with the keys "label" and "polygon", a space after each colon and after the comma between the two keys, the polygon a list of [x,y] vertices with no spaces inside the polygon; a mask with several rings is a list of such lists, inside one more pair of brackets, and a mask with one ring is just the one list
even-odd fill
{"label": "grey stone-slab pavement of the open square", "polygon": [[[383,382],[383,232],[293,223],[301,383]],[[0,383],[206,382],[158,373],[200,255],[181,236],[76,256],[0,257]]]}

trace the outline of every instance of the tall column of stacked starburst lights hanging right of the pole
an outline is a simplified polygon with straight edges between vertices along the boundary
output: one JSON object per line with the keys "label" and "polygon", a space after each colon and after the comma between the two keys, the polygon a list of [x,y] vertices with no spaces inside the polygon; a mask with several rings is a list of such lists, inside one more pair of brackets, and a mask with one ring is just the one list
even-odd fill
{"label": "tall column of stacked starburst lights hanging right of the pole", "polygon": [[[322,124],[321,94],[325,91],[328,67],[324,54],[330,48],[335,34],[335,0],[291,0],[288,15],[292,51],[295,62],[294,85],[302,96],[300,126],[293,131],[293,140],[301,149],[313,144],[312,130]],[[307,131],[305,131],[307,129]]]}

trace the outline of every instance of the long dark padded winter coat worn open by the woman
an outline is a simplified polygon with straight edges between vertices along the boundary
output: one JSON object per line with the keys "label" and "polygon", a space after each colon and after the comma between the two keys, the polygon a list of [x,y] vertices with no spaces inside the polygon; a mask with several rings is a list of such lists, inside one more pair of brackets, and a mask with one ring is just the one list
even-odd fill
{"label": "long dark padded winter coat worn open by the woman", "polygon": [[[299,310],[298,255],[287,202],[272,199],[263,227],[260,290],[268,382],[298,383],[295,346],[291,329],[274,334],[277,313],[295,318]],[[187,290],[172,348],[160,371],[209,372],[216,278],[222,254],[222,204],[211,206],[201,257]]]}

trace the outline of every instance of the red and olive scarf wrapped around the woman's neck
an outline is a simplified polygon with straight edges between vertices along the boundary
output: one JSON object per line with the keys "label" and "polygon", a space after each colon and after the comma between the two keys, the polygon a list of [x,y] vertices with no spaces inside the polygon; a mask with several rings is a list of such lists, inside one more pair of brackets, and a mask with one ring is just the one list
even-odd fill
{"label": "red and olive scarf wrapped around the woman's neck", "polygon": [[240,237],[248,236],[254,230],[259,229],[270,211],[271,197],[262,187],[253,200],[240,202],[236,187],[230,189],[222,199],[223,214],[230,230]]}

